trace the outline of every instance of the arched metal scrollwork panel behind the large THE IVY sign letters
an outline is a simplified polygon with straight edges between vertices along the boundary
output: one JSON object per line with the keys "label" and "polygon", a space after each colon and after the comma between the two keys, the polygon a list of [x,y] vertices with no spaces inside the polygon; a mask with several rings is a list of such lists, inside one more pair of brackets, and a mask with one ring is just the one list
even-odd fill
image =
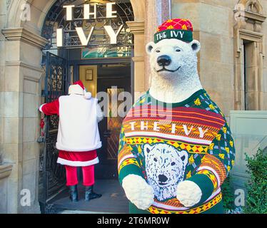
{"label": "arched metal scrollwork panel behind the large THE IVY sign letters", "polygon": [[[126,25],[126,21],[133,21],[133,9],[130,1],[107,0],[106,2],[116,2],[114,10],[117,11],[117,17],[113,19],[106,19],[106,7],[104,4],[99,4],[97,1],[85,1],[84,4],[95,4],[96,6],[96,19],[84,20],[84,7],[81,1],[78,0],[61,0],[56,1],[52,6],[49,14],[46,16],[44,22],[42,36],[49,40],[49,45],[46,49],[54,49],[56,47],[56,29],[64,29],[64,48],[79,48],[84,47],[81,45],[79,36],[76,33],[76,27],[82,27],[84,33],[88,34],[91,27],[94,26],[95,30],[91,36],[87,48],[90,47],[131,47],[133,46],[133,34]],[[76,7],[73,11],[74,19],[66,21],[66,9],[64,5],[72,4]],[[109,35],[105,33],[104,26],[112,26],[114,31],[117,31],[121,25],[124,25],[121,33],[118,36],[116,45],[110,44]]]}

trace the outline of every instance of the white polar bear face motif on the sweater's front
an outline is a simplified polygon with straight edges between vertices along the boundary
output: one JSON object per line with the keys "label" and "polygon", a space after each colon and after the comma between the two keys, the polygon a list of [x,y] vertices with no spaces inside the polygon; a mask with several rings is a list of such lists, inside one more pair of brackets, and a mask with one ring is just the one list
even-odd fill
{"label": "white polar bear face motif on the sweater's front", "polygon": [[188,163],[188,153],[163,143],[145,144],[143,152],[148,185],[153,187],[156,199],[164,201],[176,197],[178,183],[183,181]]}

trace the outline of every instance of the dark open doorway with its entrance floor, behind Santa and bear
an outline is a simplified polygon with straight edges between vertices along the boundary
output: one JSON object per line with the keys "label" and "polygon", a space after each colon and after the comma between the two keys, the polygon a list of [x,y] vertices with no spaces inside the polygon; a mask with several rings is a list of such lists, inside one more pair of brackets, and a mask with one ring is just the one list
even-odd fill
{"label": "dark open doorway with its entrance floor, behind Santa and bear", "polygon": [[[78,64],[74,68],[78,69]],[[100,96],[98,95],[99,103],[102,103],[104,99],[107,101],[102,107],[105,113],[104,120],[99,123],[99,133],[103,146],[97,151],[100,162],[95,166],[95,190],[101,193],[103,197],[91,202],[84,202],[84,187],[81,185],[83,177],[81,169],[79,169],[79,202],[70,202],[69,193],[66,189],[51,199],[49,204],[53,205],[56,213],[61,211],[127,213],[128,201],[118,180],[117,153],[121,123],[129,108],[131,108],[131,63],[97,64],[94,62],[86,66],[88,68],[97,66],[96,92],[101,93]],[[76,73],[78,72],[81,73],[81,71],[76,71]],[[72,77],[72,81],[81,79],[80,75],[75,76],[75,72]],[[124,92],[130,95],[127,101]],[[125,106],[123,103],[127,103],[127,105]]]}

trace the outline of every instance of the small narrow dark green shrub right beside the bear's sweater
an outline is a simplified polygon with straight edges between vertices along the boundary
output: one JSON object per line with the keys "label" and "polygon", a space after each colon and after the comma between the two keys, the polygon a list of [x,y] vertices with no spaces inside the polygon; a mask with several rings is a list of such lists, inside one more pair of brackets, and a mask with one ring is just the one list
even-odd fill
{"label": "small narrow dark green shrub right beside the bear's sweater", "polygon": [[227,211],[234,209],[234,195],[231,189],[231,177],[227,177],[221,185],[221,192],[223,193],[223,208]]}

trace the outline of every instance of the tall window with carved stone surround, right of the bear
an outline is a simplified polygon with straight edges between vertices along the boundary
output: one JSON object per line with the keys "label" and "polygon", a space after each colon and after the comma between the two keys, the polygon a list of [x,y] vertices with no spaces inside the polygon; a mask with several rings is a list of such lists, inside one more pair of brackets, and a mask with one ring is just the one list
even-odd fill
{"label": "tall window with carved stone surround, right of the bear", "polygon": [[258,1],[240,0],[236,5],[234,48],[235,110],[263,110],[263,33],[266,20]]}

